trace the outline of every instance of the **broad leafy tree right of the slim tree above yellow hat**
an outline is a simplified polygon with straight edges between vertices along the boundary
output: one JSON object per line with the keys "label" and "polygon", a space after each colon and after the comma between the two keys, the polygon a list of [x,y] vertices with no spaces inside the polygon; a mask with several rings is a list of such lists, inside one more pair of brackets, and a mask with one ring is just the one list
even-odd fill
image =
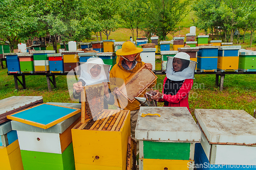
{"label": "broad leafy tree right of the slim tree above yellow hat", "polygon": [[180,21],[186,16],[189,1],[148,0],[146,31],[166,40],[168,33],[174,33]]}

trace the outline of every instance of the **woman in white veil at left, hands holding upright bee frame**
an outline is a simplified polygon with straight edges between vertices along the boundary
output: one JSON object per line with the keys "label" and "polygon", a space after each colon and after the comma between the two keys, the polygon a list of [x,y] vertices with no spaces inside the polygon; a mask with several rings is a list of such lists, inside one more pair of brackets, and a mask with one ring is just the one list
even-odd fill
{"label": "woman in white veil at left, hands holding upright bee frame", "polygon": [[89,58],[87,62],[80,63],[79,81],[73,84],[74,99],[79,99],[80,102],[83,86],[104,82],[103,108],[108,109],[108,104],[113,105],[115,102],[114,95],[111,94],[109,84],[107,83],[109,81],[109,66],[105,65],[101,58]]}

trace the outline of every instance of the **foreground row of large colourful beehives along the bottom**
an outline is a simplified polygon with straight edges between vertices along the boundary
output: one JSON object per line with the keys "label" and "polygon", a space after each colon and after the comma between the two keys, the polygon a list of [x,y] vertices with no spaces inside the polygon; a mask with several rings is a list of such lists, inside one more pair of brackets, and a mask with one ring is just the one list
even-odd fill
{"label": "foreground row of large colourful beehives along the bottom", "polygon": [[[58,106],[37,105],[35,111],[40,114],[28,113],[33,107],[19,112],[26,115],[12,115],[16,119],[11,123],[0,124],[2,141],[9,141],[9,145],[0,147],[3,169],[133,169],[126,161],[130,152],[136,156],[136,147],[131,150],[128,144],[129,111],[105,110],[102,119],[89,128],[80,128],[80,112],[51,127],[48,125],[58,117],[48,117],[50,122],[44,127],[41,119],[48,119],[44,118],[47,111],[40,109],[52,109],[48,112],[58,115],[57,110],[81,107],[54,104]],[[256,168],[256,119],[243,110],[196,109],[197,124],[185,107],[141,107],[139,114],[143,113],[159,116],[138,117],[135,136],[140,169]],[[23,116],[27,117],[18,119]]]}

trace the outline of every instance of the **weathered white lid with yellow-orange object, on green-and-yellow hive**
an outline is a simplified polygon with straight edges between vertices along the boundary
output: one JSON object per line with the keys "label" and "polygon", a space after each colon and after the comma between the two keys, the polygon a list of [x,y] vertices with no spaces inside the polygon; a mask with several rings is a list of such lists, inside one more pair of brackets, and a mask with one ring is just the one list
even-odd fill
{"label": "weathered white lid with yellow-orange object, on green-and-yellow hive", "polygon": [[186,107],[140,107],[140,113],[158,113],[160,117],[138,116],[137,140],[200,142],[201,132]]}

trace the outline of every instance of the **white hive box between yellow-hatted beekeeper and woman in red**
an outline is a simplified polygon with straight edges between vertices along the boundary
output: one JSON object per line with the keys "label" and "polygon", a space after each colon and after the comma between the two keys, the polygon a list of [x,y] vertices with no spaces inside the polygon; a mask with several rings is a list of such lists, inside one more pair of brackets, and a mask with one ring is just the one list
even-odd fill
{"label": "white hive box between yellow-hatted beekeeper and woman in red", "polygon": [[145,63],[151,63],[153,68],[156,69],[156,48],[142,48],[143,51],[140,53],[141,60]]}

